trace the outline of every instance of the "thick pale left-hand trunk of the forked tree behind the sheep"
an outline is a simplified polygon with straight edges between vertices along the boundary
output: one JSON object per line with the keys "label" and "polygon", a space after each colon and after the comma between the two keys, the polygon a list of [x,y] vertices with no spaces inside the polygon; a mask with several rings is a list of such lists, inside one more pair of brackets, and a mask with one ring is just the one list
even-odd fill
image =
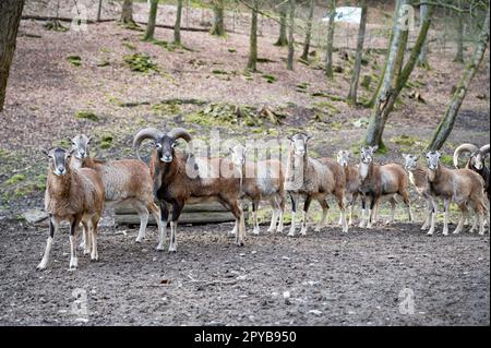
{"label": "thick pale left-hand trunk of the forked tree behind the sheep", "polygon": [[[407,0],[402,0],[400,5],[404,5],[407,2]],[[399,9],[400,7],[396,9],[397,17],[399,17],[399,15],[402,14]],[[388,48],[386,69],[384,72],[381,91],[376,98],[375,105],[373,106],[372,117],[370,118],[370,123],[364,140],[368,145],[378,145],[380,148],[384,147],[382,142],[382,134],[384,132],[385,122],[388,117],[388,112],[386,112],[387,103],[390,101],[391,94],[393,94],[396,87],[395,84],[397,82],[398,73],[402,69],[402,61],[404,59],[404,51],[407,44],[408,28],[405,27],[403,29],[403,25],[398,20],[395,21],[394,25],[394,36]]]}

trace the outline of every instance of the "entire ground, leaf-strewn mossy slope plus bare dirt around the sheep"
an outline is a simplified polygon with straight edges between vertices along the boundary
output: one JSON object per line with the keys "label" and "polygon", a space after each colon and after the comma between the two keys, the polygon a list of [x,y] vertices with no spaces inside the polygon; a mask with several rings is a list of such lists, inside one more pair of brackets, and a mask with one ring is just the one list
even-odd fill
{"label": "entire ground, leaf-strewn mossy slope plus bare dirt around the sheep", "polygon": [[[348,59],[346,50],[335,52],[338,72],[326,81],[319,50],[289,72],[286,48],[273,46],[272,35],[259,39],[261,72],[246,73],[249,43],[240,33],[216,38],[182,32],[184,47],[175,47],[170,29],[157,28],[157,40],[143,43],[140,31],[112,22],[89,24],[82,33],[48,31],[44,24],[21,23],[1,113],[0,324],[77,323],[70,313],[71,291],[82,288],[94,325],[489,325],[489,235],[428,238],[419,223],[355,228],[347,236],[337,227],[307,238],[264,233],[248,237],[242,249],[226,236],[227,224],[187,226],[179,228],[175,255],[154,251],[154,227],[135,244],[134,230],[108,223],[99,238],[100,262],[83,257],[77,272],[67,272],[68,238],[60,236],[56,262],[36,273],[47,229],[28,225],[22,214],[43,208],[41,148],[68,146],[68,137],[86,133],[95,139],[97,157],[133,157],[137,130],[179,125],[204,141],[212,131],[240,142],[304,131],[314,135],[311,156],[334,156],[340,148],[356,153],[370,117],[370,109],[344,100],[352,51]],[[378,161],[400,164],[402,153],[424,149],[463,69],[453,55],[433,51],[431,70],[414,72],[385,131],[388,152]],[[371,96],[384,55],[372,49],[366,59],[362,77],[372,81],[360,87],[360,101]],[[131,62],[145,72],[132,71]],[[416,93],[422,99],[415,99]],[[489,143],[489,95],[487,55],[442,149],[446,164],[462,142]],[[279,124],[261,116],[264,107]],[[420,221],[423,204],[414,191],[411,196]],[[318,206],[312,211],[319,215]],[[110,214],[106,218],[110,221]],[[160,284],[164,279],[170,284]],[[414,315],[398,311],[404,288],[415,293]]]}

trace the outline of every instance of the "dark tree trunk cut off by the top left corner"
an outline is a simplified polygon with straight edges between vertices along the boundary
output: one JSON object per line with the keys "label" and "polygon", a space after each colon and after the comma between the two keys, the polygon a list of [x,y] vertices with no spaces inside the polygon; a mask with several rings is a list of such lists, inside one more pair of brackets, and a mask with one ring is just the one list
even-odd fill
{"label": "dark tree trunk cut off by the top left corner", "polygon": [[7,81],[15,51],[24,0],[0,1],[0,111],[5,103]]}

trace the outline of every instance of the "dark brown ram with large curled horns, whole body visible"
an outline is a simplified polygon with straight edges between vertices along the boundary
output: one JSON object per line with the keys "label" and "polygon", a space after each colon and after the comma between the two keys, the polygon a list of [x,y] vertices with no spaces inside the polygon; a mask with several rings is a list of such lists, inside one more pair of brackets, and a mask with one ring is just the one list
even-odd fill
{"label": "dark brown ram with large curled horns, whole body visible", "polygon": [[[243,245],[246,224],[243,211],[238,200],[240,178],[227,177],[221,168],[232,168],[226,158],[195,158],[192,153],[185,155],[176,152],[178,140],[184,140],[192,146],[191,134],[183,128],[164,133],[155,128],[141,130],[133,139],[133,147],[140,158],[139,149],[144,140],[152,140],[155,149],[151,155],[151,175],[154,179],[154,195],[160,202],[163,230],[157,250],[164,250],[168,205],[172,206],[170,219],[169,252],[176,252],[176,230],[184,204],[203,201],[217,201],[236,217],[236,243]],[[191,147],[192,148],[192,147]]]}

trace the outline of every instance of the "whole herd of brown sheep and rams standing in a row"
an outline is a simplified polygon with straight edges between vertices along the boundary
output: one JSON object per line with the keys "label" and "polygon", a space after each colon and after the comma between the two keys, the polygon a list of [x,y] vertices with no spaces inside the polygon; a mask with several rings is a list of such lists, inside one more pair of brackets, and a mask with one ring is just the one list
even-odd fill
{"label": "whole herd of brown sheep and rams standing in a row", "polygon": [[[145,140],[154,146],[149,164],[140,158],[140,147]],[[185,141],[187,152],[177,151],[179,140]],[[455,169],[441,164],[441,154],[431,151],[419,155],[404,154],[405,166],[397,164],[379,165],[374,160],[376,146],[360,148],[358,160],[349,151],[339,151],[337,158],[312,158],[308,147],[311,136],[298,133],[288,137],[287,160],[248,160],[246,146],[233,146],[227,157],[197,157],[193,153],[192,136],[182,129],[161,132],[145,128],[137,132],[133,147],[137,159],[101,161],[91,157],[91,137],[79,134],[71,139],[72,147],[55,147],[45,151],[49,168],[45,193],[45,211],[49,214],[49,236],[38,269],[49,263],[49,254],[55,232],[63,220],[70,223],[70,269],[77,267],[77,230],[82,225],[84,254],[96,261],[97,225],[105,206],[130,204],[140,216],[136,241],[145,237],[148,216],[152,214],[158,226],[157,250],[166,244],[167,225],[170,226],[169,252],[177,251],[176,231],[179,216],[185,204],[216,201],[230,211],[236,219],[231,233],[235,242],[243,245],[246,223],[242,202],[252,205],[253,233],[260,232],[258,207],[260,202],[268,202],[273,208],[267,231],[282,232],[287,197],[291,202],[291,224],[288,236],[295,236],[299,199],[304,197],[300,233],[308,230],[307,214],[312,200],[322,207],[322,216],[316,225],[320,230],[325,225],[330,205],[327,197],[334,196],[339,208],[339,225],[348,232],[354,224],[352,211],[357,197],[361,199],[361,228],[371,228],[378,219],[378,208],[382,199],[391,203],[387,223],[394,219],[400,196],[406,207],[408,220],[412,223],[412,212],[408,193],[409,183],[427,202],[423,230],[432,235],[435,230],[439,201],[443,201],[443,235],[448,233],[448,211],[454,202],[462,212],[454,233],[463,230],[469,218],[469,208],[475,212],[470,231],[479,228],[484,233],[484,216],[489,223],[489,157],[490,145],[477,147],[471,144],[458,146],[454,153]],[[458,168],[458,157],[467,153],[466,167]],[[224,168],[231,168],[233,175],[224,175]],[[348,212],[347,212],[348,208]],[[347,213],[349,216],[347,217]],[[170,215],[170,216],[169,216]]]}

